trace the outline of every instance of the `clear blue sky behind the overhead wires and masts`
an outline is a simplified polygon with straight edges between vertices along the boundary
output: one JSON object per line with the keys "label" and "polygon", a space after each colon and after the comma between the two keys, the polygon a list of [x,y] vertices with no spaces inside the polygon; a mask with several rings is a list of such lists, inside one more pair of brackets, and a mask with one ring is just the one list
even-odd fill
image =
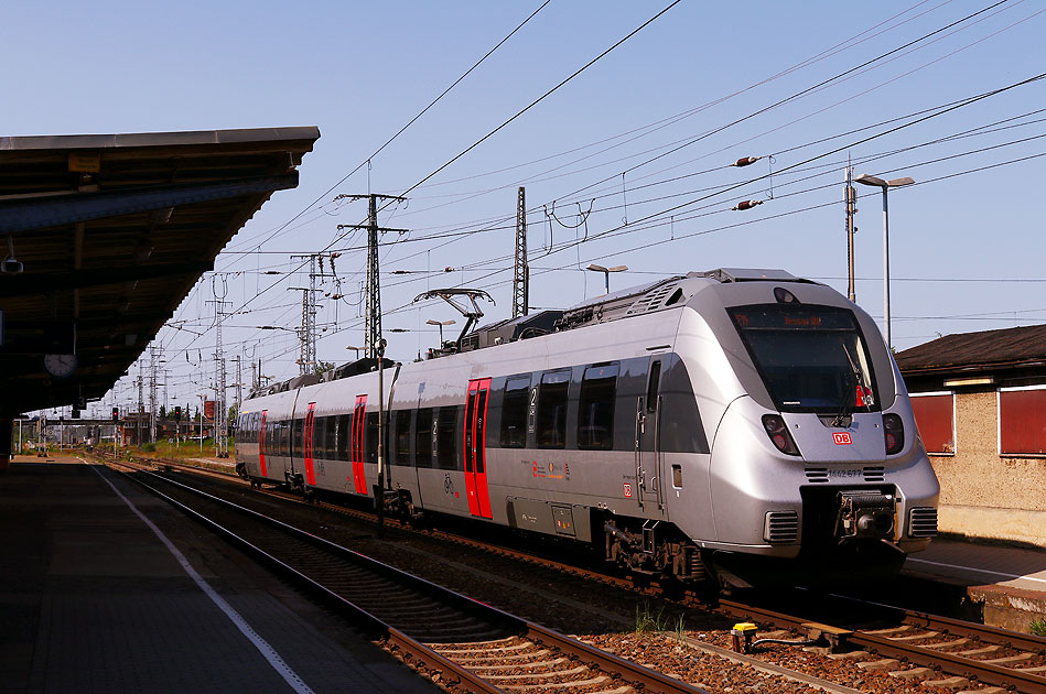
{"label": "clear blue sky behind the overhead wires and masts", "polygon": [[[540,1],[10,0],[0,8],[0,56],[8,65],[0,134],[320,127],[299,188],[276,194],[247,224],[229,246],[236,252],[216,263],[223,274],[205,278],[179,310],[184,329],[165,328],[158,339],[170,404],[186,403],[213,378],[213,316],[204,302],[214,285],[225,288],[233,308],[250,310],[227,318],[229,353],[246,346],[248,359],[265,359],[267,375],[287,378],[298,372],[291,330],[301,319],[301,293],[287,288],[306,280],[261,272],[293,270],[291,253],[345,249],[335,265],[339,289],[333,278],[323,285],[345,297],[325,297],[319,316],[327,328],[320,333],[320,359],[344,361],[352,355],[345,346],[363,339],[356,302],[365,253],[358,235],[339,237],[336,226],[363,221],[366,207],[335,204],[334,196],[411,187],[667,4],[552,0],[375,156],[369,173],[364,166],[336,185]],[[809,90],[991,4],[683,0],[411,191],[409,205],[382,213],[382,225],[411,230],[381,252],[391,356],[410,359],[435,346],[427,318],[457,317],[443,305],[400,308],[427,286],[484,288],[497,301],[487,317],[508,315],[519,185],[531,210],[536,306],[563,307],[602,293],[602,276],[579,269],[592,261],[628,265],[612,278],[612,289],[690,270],[764,267],[845,292],[848,154],[858,173],[919,183],[889,197],[895,347],[938,333],[1042,323],[1046,243],[1037,203],[1046,156],[964,172],[1046,153],[1046,110],[1035,112],[1046,107],[1046,80],[860,141],[910,123],[912,113],[1046,72],[1046,9],[1003,2]],[[901,120],[875,127],[889,119]],[[992,126],[1006,119],[1013,120]],[[950,138],[957,134],[963,137]],[[927,144],[942,138],[950,139]],[[665,155],[644,164],[657,154]],[[724,167],[768,154],[773,161]],[[770,171],[773,188],[763,180],[720,192]],[[881,197],[873,188],[859,193],[858,303],[881,318]],[[765,202],[731,212],[740,199]],[[550,229],[544,210],[553,202],[563,224]],[[563,249],[584,237],[584,224],[570,228],[579,224],[579,203],[592,207],[590,237],[612,234]],[[669,208],[676,209],[666,214]],[[641,221],[647,217],[653,224]],[[497,228],[418,240],[485,223]],[[257,250],[265,252],[244,252]],[[446,267],[455,270],[427,273]],[[412,274],[391,274],[397,270]],[[231,372],[228,380],[235,381]],[[118,397],[128,402],[137,393],[125,386]]]}

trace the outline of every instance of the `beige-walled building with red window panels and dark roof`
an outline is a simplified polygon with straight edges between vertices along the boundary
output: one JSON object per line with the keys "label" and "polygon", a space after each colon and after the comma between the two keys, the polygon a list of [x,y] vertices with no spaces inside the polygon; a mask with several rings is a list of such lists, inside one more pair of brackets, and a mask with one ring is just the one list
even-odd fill
{"label": "beige-walled building with red window panels and dark roof", "polygon": [[1046,546],[1046,325],[896,358],[940,479],[941,532]]}

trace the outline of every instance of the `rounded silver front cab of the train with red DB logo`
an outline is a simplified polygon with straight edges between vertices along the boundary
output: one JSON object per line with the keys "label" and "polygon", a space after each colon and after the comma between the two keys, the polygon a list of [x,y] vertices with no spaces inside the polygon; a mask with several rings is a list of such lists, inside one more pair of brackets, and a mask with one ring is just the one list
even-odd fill
{"label": "rounded silver front cab of the train with red DB logo", "polygon": [[715,289],[690,328],[714,332],[729,364],[695,386],[723,408],[714,528],[691,536],[735,585],[896,575],[936,534],[939,486],[874,323],[812,283]]}

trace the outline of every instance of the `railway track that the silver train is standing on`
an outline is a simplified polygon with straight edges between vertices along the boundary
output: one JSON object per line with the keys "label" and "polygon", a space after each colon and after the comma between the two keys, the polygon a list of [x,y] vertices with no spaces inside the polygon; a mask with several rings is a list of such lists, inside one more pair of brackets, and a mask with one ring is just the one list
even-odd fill
{"label": "railway track that the silver train is standing on", "polygon": [[[220,473],[211,474],[222,476]],[[276,490],[266,491],[266,494],[301,500],[295,495]],[[373,514],[367,512],[335,508],[339,512],[373,522]],[[398,523],[393,521],[393,524]],[[408,530],[406,525],[398,525]],[[490,545],[445,532],[438,534],[483,551],[567,571],[618,587],[629,585],[627,579],[591,572],[519,550]],[[687,603],[697,607],[699,600],[691,596]],[[804,605],[797,608],[797,603]],[[701,605],[701,607],[707,606]],[[855,665],[859,668],[887,670],[902,679],[951,687],[952,691],[988,685],[989,688],[979,691],[1046,694],[1046,638],[1043,637],[917,610],[863,603],[843,596],[832,596],[831,600],[826,600],[824,596],[818,596],[813,601],[792,599],[788,607],[789,612],[792,614],[734,600],[721,600],[716,609],[737,621],[751,620],[759,623],[761,627],[773,627],[791,633],[802,635],[810,632],[811,629],[830,626],[835,631],[845,632],[843,648],[850,649],[845,658],[863,663],[863,665]],[[797,611],[804,616],[796,616]],[[830,625],[824,622],[830,622]],[[811,623],[819,626],[808,626]]]}

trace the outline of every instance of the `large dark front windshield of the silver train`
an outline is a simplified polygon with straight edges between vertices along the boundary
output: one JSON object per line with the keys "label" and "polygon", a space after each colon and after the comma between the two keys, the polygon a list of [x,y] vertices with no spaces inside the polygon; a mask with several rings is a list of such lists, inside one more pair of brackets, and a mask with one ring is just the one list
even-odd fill
{"label": "large dark front windshield of the silver train", "polygon": [[880,409],[872,360],[852,311],[787,303],[730,313],[781,412]]}

